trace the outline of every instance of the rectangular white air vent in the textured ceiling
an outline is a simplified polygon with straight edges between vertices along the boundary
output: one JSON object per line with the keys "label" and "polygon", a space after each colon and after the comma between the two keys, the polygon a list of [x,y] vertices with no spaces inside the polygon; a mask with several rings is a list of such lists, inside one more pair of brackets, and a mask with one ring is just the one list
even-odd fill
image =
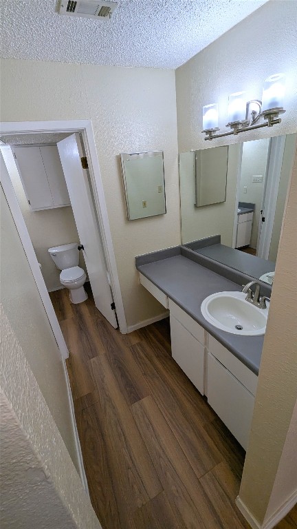
{"label": "rectangular white air vent in the textured ceiling", "polygon": [[59,13],[66,14],[67,17],[109,20],[117,6],[117,2],[104,0],[61,0]]}

